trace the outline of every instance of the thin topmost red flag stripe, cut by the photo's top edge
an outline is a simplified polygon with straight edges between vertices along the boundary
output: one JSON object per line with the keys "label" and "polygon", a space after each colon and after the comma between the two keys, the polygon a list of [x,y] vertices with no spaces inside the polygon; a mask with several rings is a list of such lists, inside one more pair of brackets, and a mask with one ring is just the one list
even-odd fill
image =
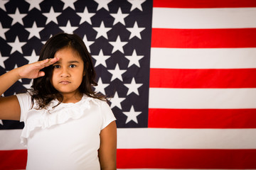
{"label": "thin topmost red flag stripe, cut by the photo's top edge", "polygon": [[164,8],[235,8],[256,7],[255,0],[154,0],[153,7]]}

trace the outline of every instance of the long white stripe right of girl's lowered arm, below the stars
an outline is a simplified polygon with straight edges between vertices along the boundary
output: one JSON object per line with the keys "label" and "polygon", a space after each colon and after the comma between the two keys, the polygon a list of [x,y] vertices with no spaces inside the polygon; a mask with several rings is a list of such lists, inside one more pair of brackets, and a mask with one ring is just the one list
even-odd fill
{"label": "long white stripe right of girl's lowered arm, below the stars", "polygon": [[256,149],[256,129],[117,129],[118,149]]}

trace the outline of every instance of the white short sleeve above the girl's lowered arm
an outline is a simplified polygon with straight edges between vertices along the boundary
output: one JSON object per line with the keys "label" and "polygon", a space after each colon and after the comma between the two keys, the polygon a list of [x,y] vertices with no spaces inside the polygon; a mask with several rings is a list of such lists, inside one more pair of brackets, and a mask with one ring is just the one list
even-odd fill
{"label": "white short sleeve above the girl's lowered arm", "polygon": [[100,130],[104,129],[112,123],[112,121],[117,120],[114,117],[114,114],[110,108],[110,106],[107,104],[107,102],[101,102],[101,113],[102,113],[102,126]]}

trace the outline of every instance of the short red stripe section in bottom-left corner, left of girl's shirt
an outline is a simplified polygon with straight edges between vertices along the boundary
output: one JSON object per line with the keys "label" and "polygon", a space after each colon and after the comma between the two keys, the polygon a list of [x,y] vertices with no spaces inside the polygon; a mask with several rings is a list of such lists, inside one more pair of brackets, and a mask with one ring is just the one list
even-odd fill
{"label": "short red stripe section in bottom-left corner, left of girl's shirt", "polygon": [[0,169],[26,169],[27,150],[0,150]]}

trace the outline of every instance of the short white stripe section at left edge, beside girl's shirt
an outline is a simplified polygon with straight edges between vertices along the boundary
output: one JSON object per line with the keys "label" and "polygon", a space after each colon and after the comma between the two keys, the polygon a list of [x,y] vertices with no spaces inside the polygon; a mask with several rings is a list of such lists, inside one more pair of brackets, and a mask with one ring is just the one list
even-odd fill
{"label": "short white stripe section at left edge, beside girl's shirt", "polygon": [[0,150],[26,149],[21,145],[21,130],[0,130]]}

